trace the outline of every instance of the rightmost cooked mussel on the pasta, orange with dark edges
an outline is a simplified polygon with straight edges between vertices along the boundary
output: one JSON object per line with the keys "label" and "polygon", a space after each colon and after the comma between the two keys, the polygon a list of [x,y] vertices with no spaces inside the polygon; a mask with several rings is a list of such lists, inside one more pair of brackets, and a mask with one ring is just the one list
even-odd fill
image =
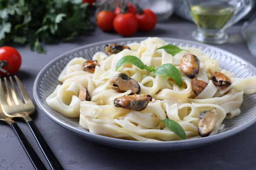
{"label": "rightmost cooked mussel on the pasta, orange with dark edges", "polygon": [[213,84],[218,88],[218,90],[222,90],[231,85],[231,80],[225,74],[216,72],[211,76],[211,80]]}

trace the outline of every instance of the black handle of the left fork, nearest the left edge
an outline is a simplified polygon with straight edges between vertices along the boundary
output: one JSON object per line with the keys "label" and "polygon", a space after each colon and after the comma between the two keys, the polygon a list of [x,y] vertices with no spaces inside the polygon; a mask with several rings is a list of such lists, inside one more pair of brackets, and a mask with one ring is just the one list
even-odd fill
{"label": "black handle of the left fork, nearest the left edge", "polygon": [[29,157],[31,163],[33,164],[34,168],[36,170],[47,170],[45,168],[45,165],[43,162],[40,160],[38,155],[36,154],[35,150],[33,147],[29,144],[29,141],[23,134],[23,132],[20,130],[18,124],[16,123],[11,123],[11,127],[15,131],[18,139],[20,140],[21,145],[23,146],[25,152],[27,153],[27,156]]}

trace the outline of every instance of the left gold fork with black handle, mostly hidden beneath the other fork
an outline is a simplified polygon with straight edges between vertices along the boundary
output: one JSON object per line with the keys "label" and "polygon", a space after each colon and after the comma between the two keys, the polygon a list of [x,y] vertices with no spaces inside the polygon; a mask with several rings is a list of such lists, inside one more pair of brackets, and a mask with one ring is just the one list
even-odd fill
{"label": "left gold fork with black handle, mostly hidden beneath the other fork", "polygon": [[[2,91],[2,86],[4,86],[2,83],[0,84],[0,91]],[[4,97],[5,98],[5,97]],[[1,96],[1,100],[3,97]],[[11,117],[8,117],[7,115],[4,114],[2,111],[2,108],[0,107],[0,120],[5,121],[7,124],[9,124],[14,132],[16,133],[18,139],[20,140],[20,144],[23,146],[25,152],[27,153],[27,156],[29,157],[31,163],[33,164],[34,168],[36,170],[46,170],[43,162],[40,160],[38,155],[36,154],[35,150],[33,147],[29,144],[29,141],[23,134],[23,132],[20,130],[18,124],[16,124],[15,121],[11,119]]]}

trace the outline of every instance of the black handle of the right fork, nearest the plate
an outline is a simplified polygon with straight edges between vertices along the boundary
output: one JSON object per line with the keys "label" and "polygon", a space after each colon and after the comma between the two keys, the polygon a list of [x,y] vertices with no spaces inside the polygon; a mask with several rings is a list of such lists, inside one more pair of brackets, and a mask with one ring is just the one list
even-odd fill
{"label": "black handle of the right fork, nearest the plate", "polygon": [[55,157],[52,150],[49,148],[45,139],[41,135],[40,131],[36,127],[36,124],[34,123],[34,121],[33,120],[27,121],[27,124],[29,125],[30,130],[32,131],[34,137],[36,138],[36,141],[40,146],[41,150],[43,151],[43,154],[45,155],[52,170],[64,170],[63,167],[61,166],[61,163],[59,163],[58,159]]}

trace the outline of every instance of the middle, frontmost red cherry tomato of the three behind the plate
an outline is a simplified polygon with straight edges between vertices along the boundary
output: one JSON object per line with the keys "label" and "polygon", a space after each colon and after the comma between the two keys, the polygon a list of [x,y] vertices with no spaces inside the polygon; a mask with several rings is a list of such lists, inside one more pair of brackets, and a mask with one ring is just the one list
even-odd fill
{"label": "middle, frontmost red cherry tomato of the three behind the plate", "polygon": [[132,13],[120,13],[113,22],[114,29],[123,36],[130,36],[138,29],[138,20]]}

